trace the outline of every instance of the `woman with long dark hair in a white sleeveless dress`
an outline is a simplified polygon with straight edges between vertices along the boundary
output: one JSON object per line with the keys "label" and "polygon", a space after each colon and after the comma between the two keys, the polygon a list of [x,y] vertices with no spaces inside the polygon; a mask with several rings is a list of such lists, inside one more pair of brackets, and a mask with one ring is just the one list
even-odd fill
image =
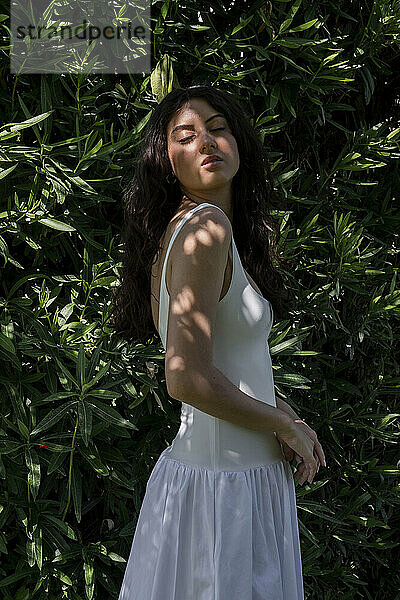
{"label": "woman with long dark hair in a white sleeveless dress", "polygon": [[[127,190],[114,324],[126,336],[146,333],[132,281],[151,274],[151,304],[141,306],[151,309],[182,411],[148,480],[119,600],[304,598],[289,461],[300,462],[302,484],[325,458],[315,431],[274,394],[265,296],[279,299],[280,279],[266,166],[248,117],[221,90],[173,90],[151,115]],[[149,225],[159,222],[156,203],[168,218],[158,238]],[[154,241],[150,269],[143,256]]]}

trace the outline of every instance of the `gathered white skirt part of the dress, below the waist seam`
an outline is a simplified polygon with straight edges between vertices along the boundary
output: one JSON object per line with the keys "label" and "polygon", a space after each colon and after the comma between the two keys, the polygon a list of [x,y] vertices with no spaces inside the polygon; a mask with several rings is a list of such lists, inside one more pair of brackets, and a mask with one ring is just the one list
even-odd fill
{"label": "gathered white skirt part of the dress, below the waist seam", "polygon": [[166,455],[147,482],[118,600],[304,600],[293,473]]}

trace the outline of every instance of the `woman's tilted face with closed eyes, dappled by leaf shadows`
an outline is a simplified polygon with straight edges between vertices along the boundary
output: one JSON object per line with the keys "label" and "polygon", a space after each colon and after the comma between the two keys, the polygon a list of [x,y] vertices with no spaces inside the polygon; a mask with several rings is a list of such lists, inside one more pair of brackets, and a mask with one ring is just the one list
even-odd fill
{"label": "woman's tilted face with closed eyes, dappled by leaf shadows", "polygon": [[[229,200],[240,160],[228,122],[223,116],[214,116],[217,113],[202,98],[185,103],[168,123],[168,156],[184,192]],[[202,161],[211,154],[222,161],[203,167]]]}

